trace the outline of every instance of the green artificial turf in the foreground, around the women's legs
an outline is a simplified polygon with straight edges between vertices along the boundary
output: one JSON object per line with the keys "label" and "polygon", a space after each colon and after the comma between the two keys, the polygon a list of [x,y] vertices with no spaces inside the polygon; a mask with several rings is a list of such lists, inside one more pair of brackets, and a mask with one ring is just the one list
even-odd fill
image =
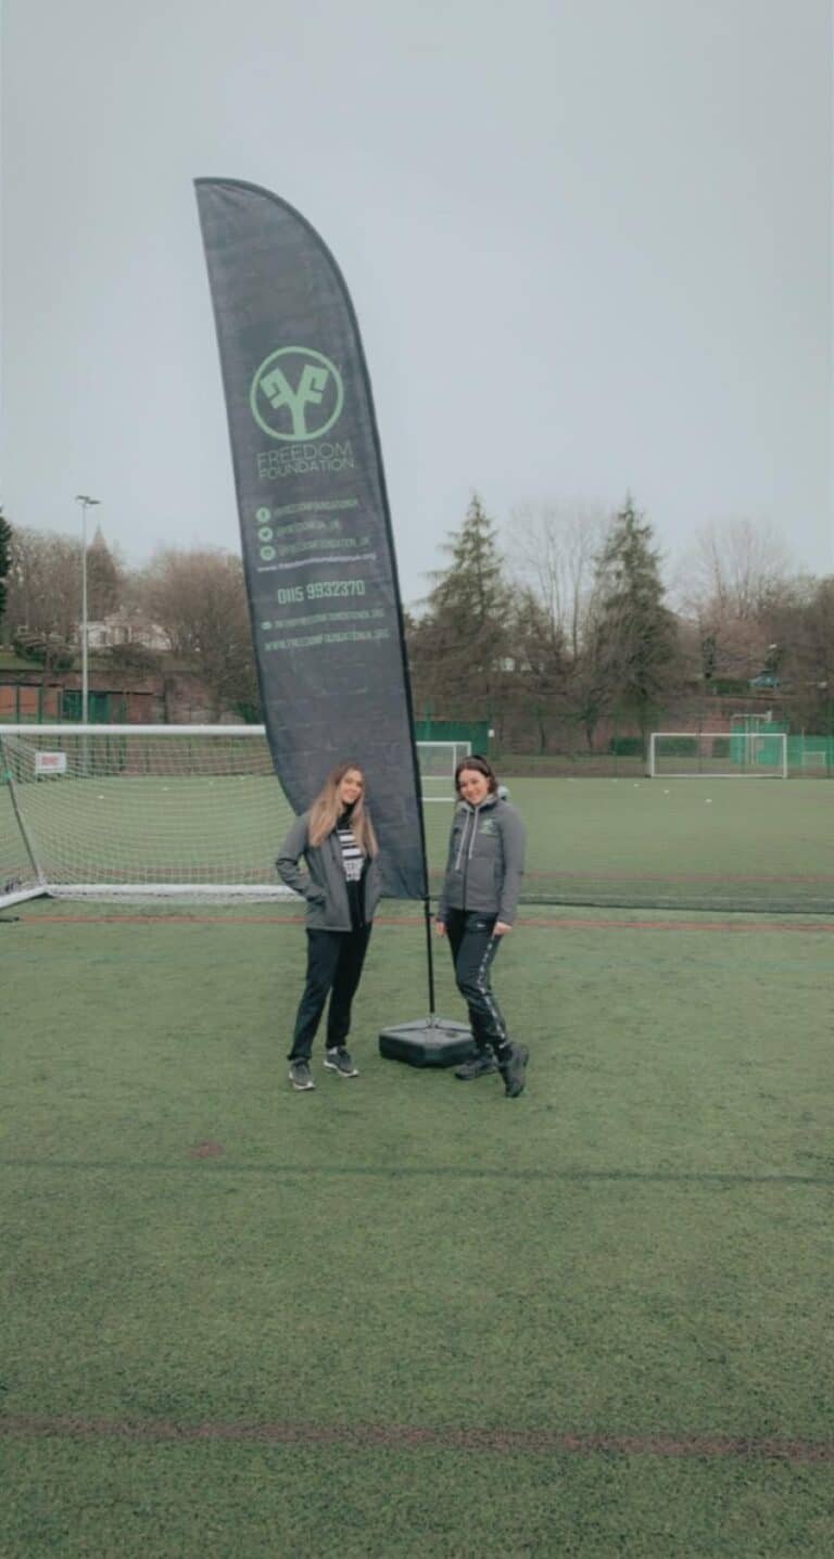
{"label": "green artificial turf in the foreground, around the women's legs", "polygon": [[413,909],[312,1094],[284,909],[17,914],[3,1559],[834,1550],[829,921],[522,918],[507,1101],[377,1054]]}

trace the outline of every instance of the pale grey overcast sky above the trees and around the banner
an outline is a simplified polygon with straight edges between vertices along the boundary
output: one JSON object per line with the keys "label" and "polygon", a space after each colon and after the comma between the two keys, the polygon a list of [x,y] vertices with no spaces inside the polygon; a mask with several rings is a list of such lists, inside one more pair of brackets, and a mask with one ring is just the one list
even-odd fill
{"label": "pale grey overcast sky above the trees and around the banner", "polygon": [[475,488],[834,569],[829,0],[3,0],[3,485],[239,550],[192,179],[318,228],[407,602]]}

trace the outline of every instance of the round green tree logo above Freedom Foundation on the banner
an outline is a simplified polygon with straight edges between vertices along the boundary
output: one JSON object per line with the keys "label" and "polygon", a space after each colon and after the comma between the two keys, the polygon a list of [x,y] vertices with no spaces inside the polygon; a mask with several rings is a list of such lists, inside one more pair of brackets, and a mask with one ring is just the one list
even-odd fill
{"label": "round green tree logo above Freedom Foundation on the banner", "polygon": [[270,438],[298,444],[321,438],[341,416],[345,387],[329,357],[309,346],[282,346],[256,371],[249,407]]}

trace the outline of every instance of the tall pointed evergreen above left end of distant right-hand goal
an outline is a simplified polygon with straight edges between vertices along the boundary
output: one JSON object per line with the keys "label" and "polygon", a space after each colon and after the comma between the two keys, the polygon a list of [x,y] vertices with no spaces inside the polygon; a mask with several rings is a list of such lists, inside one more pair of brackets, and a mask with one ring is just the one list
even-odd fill
{"label": "tall pointed evergreen above left end of distant right-hand goal", "polygon": [[673,684],[678,652],[652,541],[652,525],[627,494],[597,560],[599,613],[589,645],[606,702],[631,714],[644,736]]}

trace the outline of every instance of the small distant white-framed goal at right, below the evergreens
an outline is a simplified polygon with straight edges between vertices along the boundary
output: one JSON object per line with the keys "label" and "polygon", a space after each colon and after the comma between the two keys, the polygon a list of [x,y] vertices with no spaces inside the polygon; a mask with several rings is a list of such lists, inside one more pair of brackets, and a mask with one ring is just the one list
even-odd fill
{"label": "small distant white-framed goal at right, below the evergreens", "polygon": [[653,731],[652,780],[787,780],[784,731]]}

